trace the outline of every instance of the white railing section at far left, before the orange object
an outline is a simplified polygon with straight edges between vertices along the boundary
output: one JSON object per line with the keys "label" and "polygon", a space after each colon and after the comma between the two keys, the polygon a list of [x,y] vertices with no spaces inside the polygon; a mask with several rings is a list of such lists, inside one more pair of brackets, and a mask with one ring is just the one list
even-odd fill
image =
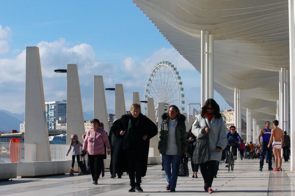
{"label": "white railing section at far left, before the orange object", "polygon": [[0,163],[36,161],[36,144],[0,142]]}

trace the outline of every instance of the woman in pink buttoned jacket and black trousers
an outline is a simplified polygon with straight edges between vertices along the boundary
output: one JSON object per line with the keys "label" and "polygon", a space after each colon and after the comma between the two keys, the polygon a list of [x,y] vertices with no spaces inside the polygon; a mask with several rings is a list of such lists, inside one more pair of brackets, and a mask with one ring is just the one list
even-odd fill
{"label": "woman in pink buttoned jacket and black trousers", "polygon": [[104,159],[104,144],[107,148],[107,154],[111,154],[111,147],[105,130],[99,128],[99,120],[91,120],[92,129],[87,131],[82,150],[88,151],[90,171],[92,175],[92,184],[97,185],[97,179],[101,172],[101,164]]}

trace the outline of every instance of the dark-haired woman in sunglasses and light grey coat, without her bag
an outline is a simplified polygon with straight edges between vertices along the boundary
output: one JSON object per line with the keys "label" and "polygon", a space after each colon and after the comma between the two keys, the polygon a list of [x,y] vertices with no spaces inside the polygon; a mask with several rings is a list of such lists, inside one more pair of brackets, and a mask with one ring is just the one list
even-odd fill
{"label": "dark-haired woman in sunglasses and light grey coat, without her bag", "polygon": [[196,138],[202,138],[208,134],[209,160],[200,164],[201,173],[204,179],[204,190],[212,190],[214,168],[216,161],[221,160],[222,149],[226,147],[226,130],[221,118],[219,105],[214,99],[207,99],[202,106],[201,114],[192,125],[192,133]]}

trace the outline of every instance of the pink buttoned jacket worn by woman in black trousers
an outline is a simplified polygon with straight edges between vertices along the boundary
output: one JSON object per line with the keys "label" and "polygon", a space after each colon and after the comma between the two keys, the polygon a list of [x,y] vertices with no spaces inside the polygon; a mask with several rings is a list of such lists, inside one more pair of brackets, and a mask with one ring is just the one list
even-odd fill
{"label": "pink buttoned jacket worn by woman in black trousers", "polygon": [[104,144],[106,144],[106,148],[111,148],[105,130],[94,131],[90,129],[86,133],[82,150],[87,149],[89,155],[104,155]]}

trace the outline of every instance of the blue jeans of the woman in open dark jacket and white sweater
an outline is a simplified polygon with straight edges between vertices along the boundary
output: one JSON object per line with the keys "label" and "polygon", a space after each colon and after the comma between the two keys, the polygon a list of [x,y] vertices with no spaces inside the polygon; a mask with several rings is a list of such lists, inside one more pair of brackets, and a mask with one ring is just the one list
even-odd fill
{"label": "blue jeans of the woman in open dark jacket and white sweater", "polygon": [[[172,165],[172,173],[171,173]],[[178,166],[179,157],[178,155],[164,155],[164,170],[166,175],[166,180],[170,187],[176,188],[176,182],[178,177]]]}

